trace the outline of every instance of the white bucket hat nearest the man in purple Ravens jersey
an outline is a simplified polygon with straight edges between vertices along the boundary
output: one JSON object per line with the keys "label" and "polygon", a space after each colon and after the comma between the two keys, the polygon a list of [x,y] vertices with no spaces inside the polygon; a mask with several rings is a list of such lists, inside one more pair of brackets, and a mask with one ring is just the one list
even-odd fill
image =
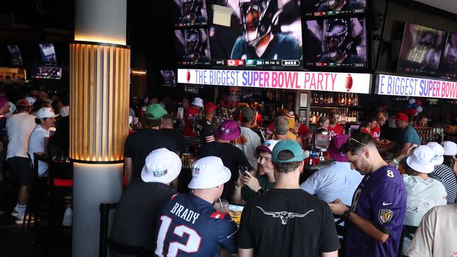
{"label": "white bucket hat nearest the man in purple Ravens jersey", "polygon": [[411,169],[420,173],[432,173],[435,170],[434,160],[435,152],[427,145],[420,145],[414,150],[406,163]]}

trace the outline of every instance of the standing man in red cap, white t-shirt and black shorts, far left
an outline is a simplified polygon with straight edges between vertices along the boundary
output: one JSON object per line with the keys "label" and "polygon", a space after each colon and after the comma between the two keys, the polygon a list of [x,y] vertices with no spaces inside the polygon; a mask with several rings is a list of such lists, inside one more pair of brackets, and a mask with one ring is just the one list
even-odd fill
{"label": "standing man in red cap, white t-shirt and black shorts, far left", "polygon": [[6,120],[6,133],[8,134],[8,149],[6,160],[18,177],[19,192],[18,203],[13,209],[12,216],[20,213],[24,216],[25,207],[29,196],[29,187],[33,180],[33,171],[30,167],[30,158],[27,154],[30,134],[35,128],[35,117],[30,115],[30,103],[20,99],[16,103],[17,114]]}

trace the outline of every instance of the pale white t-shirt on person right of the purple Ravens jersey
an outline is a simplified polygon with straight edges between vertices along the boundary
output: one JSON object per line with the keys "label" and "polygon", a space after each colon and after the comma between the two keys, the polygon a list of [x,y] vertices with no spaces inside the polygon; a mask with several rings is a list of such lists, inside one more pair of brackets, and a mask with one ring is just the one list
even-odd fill
{"label": "pale white t-shirt on person right of the purple Ravens jersey", "polygon": [[418,176],[403,175],[406,187],[405,225],[418,226],[422,217],[432,207],[446,205],[446,190],[433,178],[423,180]]}

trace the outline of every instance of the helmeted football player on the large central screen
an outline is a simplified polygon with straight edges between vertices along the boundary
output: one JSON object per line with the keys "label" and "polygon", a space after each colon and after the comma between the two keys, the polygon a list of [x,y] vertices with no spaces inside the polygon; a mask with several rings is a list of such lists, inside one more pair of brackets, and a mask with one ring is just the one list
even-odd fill
{"label": "helmeted football player on the large central screen", "polygon": [[302,59],[300,41],[288,34],[273,34],[280,13],[277,0],[240,0],[242,35],[233,45],[231,59]]}

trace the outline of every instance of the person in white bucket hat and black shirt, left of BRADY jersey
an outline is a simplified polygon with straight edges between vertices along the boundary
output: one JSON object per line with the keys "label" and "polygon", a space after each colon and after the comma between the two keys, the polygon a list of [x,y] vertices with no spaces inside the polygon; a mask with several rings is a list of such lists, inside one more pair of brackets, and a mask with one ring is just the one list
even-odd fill
{"label": "person in white bucket hat and black shirt, left of BRADY jersey", "polygon": [[169,185],[180,172],[181,159],[177,154],[165,148],[150,152],[141,178],[131,181],[117,204],[110,232],[112,257],[136,256],[122,253],[120,244],[136,251],[154,251],[157,212],[175,194]]}

